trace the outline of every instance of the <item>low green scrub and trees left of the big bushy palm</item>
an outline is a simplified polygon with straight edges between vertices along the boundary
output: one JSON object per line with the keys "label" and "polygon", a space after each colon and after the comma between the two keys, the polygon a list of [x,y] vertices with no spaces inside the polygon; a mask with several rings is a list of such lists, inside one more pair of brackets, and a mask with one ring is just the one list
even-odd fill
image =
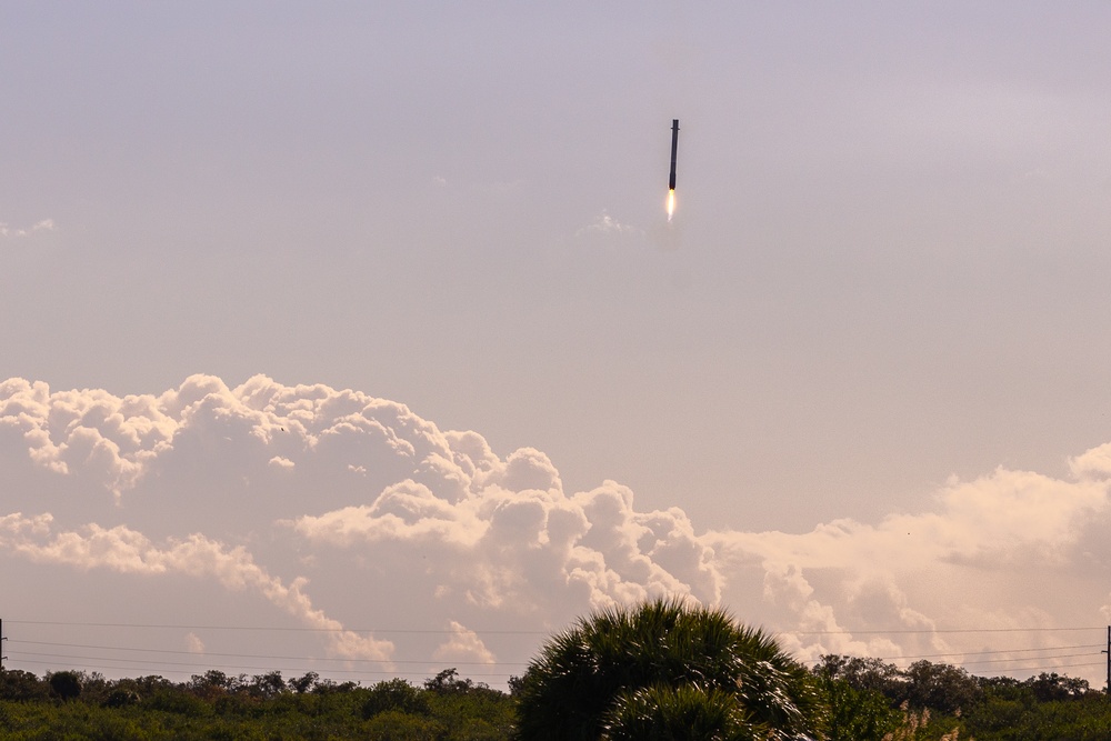
{"label": "low green scrub and trees left of the big bushy palm", "polygon": [[310,672],[247,678],[208,671],[188,682],[106,680],[0,671],[0,739],[289,739],[496,741],[509,738],[513,700],[448,669],[413,687],[363,688]]}

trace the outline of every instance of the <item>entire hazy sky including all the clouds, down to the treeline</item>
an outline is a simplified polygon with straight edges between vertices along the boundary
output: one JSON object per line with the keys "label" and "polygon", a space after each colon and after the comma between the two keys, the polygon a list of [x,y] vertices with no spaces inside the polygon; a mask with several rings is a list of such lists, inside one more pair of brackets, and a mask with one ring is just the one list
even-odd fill
{"label": "entire hazy sky including all the clouds, down to the treeline", "polygon": [[500,687],[681,594],[1101,684],[1109,22],[3,3],[6,665]]}

